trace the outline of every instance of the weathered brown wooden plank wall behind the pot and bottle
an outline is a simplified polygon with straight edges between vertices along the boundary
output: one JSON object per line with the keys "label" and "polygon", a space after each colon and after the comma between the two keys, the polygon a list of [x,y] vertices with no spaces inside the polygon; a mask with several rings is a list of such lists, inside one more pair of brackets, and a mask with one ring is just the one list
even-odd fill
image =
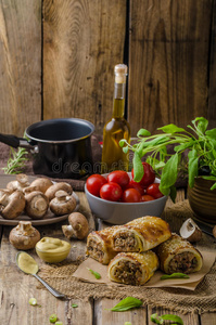
{"label": "weathered brown wooden plank wall behind the pot and bottle", "polygon": [[132,135],[195,116],[216,127],[215,12],[216,0],[0,1],[0,132],[80,117],[102,134],[119,62]]}

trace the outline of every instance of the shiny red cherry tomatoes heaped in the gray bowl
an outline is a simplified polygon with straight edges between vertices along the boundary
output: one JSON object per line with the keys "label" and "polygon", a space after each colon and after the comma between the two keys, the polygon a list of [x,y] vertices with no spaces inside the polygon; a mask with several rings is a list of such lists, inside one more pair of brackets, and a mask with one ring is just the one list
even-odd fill
{"label": "shiny red cherry tomatoes heaped in the gray bowl", "polygon": [[148,162],[142,162],[144,174],[141,181],[134,181],[123,170],[115,170],[104,178],[101,174],[92,174],[87,179],[87,190],[94,196],[112,202],[138,203],[149,202],[163,196],[158,183],[155,183],[155,173]]}

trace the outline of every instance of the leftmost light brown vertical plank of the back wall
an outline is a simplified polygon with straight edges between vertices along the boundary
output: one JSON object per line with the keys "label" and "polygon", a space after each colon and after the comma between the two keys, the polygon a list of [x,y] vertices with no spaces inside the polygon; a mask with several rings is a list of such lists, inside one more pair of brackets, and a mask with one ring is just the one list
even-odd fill
{"label": "leftmost light brown vertical plank of the back wall", "polygon": [[0,2],[0,132],[23,135],[41,116],[41,1]]}

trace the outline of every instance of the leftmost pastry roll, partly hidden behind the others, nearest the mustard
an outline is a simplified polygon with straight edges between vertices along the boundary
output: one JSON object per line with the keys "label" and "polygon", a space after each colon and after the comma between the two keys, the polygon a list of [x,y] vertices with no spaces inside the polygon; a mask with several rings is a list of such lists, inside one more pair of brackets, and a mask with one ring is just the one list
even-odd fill
{"label": "leftmost pastry roll, partly hidden behind the others, nearest the mustard", "polygon": [[105,227],[101,231],[93,231],[87,237],[87,256],[102,264],[109,264],[117,251],[113,249],[112,235],[118,225]]}

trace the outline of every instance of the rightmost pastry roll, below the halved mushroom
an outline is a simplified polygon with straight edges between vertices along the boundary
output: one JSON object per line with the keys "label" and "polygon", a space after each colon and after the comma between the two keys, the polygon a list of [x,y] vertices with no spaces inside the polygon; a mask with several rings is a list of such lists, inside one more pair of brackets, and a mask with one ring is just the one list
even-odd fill
{"label": "rightmost pastry roll, below the halved mushroom", "polygon": [[203,264],[202,255],[191,243],[177,234],[155,248],[160,268],[167,274],[192,273],[200,271]]}

